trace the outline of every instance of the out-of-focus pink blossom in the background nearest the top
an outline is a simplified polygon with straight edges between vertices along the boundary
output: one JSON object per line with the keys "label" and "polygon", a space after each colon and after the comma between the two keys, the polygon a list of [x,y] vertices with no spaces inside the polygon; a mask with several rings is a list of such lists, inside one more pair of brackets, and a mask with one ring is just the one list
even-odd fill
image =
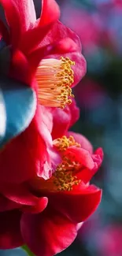
{"label": "out-of-focus pink blossom in the background nearest the top", "polygon": [[[91,15],[84,9],[66,3],[62,6],[61,20],[72,30],[76,31],[81,39],[83,49],[91,50],[91,46],[98,45],[101,40],[102,20],[98,13]],[[73,17],[73,18],[72,18]]]}

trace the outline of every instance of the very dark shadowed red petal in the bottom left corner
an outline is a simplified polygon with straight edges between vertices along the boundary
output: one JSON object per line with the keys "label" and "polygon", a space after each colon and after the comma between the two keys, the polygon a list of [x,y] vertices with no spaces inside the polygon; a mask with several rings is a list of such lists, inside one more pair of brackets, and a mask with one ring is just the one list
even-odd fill
{"label": "very dark shadowed red petal in the bottom left corner", "polygon": [[12,249],[23,245],[20,234],[20,217],[18,210],[0,213],[0,248]]}

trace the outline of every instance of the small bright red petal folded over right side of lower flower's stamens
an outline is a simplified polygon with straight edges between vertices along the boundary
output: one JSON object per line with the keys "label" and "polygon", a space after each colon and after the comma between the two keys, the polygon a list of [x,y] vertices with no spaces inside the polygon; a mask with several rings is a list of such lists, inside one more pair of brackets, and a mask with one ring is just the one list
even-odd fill
{"label": "small bright red petal folded over right side of lower flower's stamens", "polygon": [[88,169],[94,169],[94,161],[88,150],[84,150],[82,147],[68,147],[65,154],[70,154],[71,159],[74,157],[76,161]]}

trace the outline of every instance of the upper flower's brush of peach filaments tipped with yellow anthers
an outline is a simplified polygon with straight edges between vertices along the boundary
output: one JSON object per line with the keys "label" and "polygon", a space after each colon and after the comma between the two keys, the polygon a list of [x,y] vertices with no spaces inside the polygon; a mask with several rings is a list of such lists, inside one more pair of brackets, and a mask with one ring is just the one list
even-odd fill
{"label": "upper flower's brush of peach filaments tipped with yellow anthers", "polygon": [[63,57],[60,60],[50,58],[40,62],[35,75],[39,86],[40,104],[64,109],[65,105],[72,103],[72,65],[75,65],[74,61]]}

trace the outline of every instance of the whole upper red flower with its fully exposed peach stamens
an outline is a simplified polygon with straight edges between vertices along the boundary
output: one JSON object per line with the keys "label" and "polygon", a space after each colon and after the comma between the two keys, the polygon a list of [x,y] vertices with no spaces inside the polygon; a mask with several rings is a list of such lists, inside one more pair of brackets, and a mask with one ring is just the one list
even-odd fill
{"label": "whole upper red flower with its fully exposed peach stamens", "polygon": [[71,102],[70,87],[84,75],[86,62],[77,35],[57,20],[60,12],[54,0],[42,1],[39,20],[32,0],[0,2],[9,25],[8,30],[0,20],[1,37],[6,42],[2,50],[9,52],[8,58],[0,56],[7,67],[4,73],[31,86],[38,99],[31,124],[1,151],[1,182],[21,183],[35,175],[47,179],[59,162],[50,136],[49,107]]}

